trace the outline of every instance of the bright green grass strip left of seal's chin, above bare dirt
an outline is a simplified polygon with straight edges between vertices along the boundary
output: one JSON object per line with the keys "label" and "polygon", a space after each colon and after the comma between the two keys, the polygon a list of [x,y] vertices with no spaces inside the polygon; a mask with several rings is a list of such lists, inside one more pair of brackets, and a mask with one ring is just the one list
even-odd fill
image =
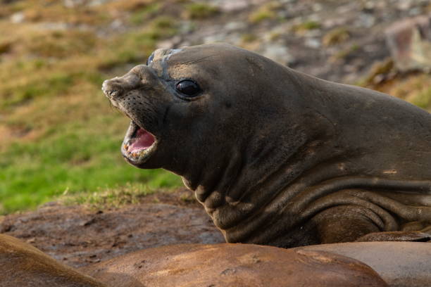
{"label": "bright green grass strip left of seal's chin, above bare dirt", "polygon": [[46,139],[13,144],[0,153],[0,212],[35,208],[64,191],[94,192],[126,183],[180,186],[180,179],[168,172],[127,165],[119,152],[121,137],[100,120],[63,125]]}

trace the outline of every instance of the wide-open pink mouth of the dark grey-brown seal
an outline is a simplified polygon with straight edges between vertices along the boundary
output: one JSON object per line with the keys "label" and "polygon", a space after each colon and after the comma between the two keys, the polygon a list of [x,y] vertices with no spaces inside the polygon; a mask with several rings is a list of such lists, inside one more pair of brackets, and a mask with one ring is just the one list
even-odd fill
{"label": "wide-open pink mouth of the dark grey-brown seal", "polygon": [[131,121],[121,146],[121,153],[131,163],[143,163],[156,151],[156,136]]}

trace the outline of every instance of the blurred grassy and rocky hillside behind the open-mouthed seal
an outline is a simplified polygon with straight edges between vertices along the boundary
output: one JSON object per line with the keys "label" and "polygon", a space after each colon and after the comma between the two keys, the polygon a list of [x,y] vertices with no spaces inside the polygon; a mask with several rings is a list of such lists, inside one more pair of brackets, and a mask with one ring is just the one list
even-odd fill
{"label": "blurred grassy and rocky hillside behind the open-mouthed seal", "polygon": [[0,0],[0,214],[176,189],[120,155],[104,79],[157,48],[228,42],[431,108],[431,0]]}

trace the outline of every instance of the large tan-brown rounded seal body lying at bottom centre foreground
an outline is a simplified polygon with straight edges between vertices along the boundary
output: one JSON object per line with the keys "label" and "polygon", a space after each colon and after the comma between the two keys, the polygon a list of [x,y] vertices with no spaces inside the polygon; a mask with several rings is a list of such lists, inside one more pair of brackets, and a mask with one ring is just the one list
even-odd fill
{"label": "large tan-brown rounded seal body lying at bottom centre foreground", "polygon": [[325,251],[250,244],[168,245],[81,269],[111,286],[387,286],[366,264]]}

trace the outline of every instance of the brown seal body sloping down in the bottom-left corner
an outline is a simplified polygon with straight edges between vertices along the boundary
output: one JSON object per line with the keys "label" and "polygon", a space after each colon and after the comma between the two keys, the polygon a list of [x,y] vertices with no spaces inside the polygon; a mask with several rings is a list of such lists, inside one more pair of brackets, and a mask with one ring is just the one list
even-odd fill
{"label": "brown seal body sloping down in the bottom-left corner", "polygon": [[17,238],[0,234],[1,287],[106,287]]}

